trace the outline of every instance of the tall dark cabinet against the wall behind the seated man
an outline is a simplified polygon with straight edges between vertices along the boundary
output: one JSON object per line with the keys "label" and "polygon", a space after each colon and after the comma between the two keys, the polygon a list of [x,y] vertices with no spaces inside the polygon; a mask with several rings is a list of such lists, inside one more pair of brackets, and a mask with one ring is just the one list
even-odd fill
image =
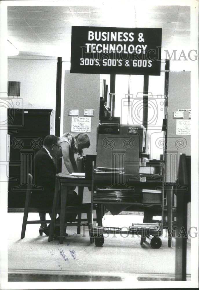
{"label": "tall dark cabinet against the wall behind the seated man", "polygon": [[50,134],[51,113],[52,110],[45,109],[8,109],[8,207],[24,207],[28,173],[33,173],[34,154]]}

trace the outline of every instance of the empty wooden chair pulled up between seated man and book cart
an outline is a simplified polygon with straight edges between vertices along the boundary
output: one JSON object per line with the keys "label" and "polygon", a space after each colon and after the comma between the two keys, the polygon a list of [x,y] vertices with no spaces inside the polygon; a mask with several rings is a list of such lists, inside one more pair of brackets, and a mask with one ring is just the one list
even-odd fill
{"label": "empty wooden chair pulled up between seated man and book cart", "polygon": [[[49,237],[48,242],[51,242],[53,240],[53,232],[54,228],[56,226],[60,227],[60,244],[63,243],[63,237],[64,237],[64,228],[67,226],[77,226],[78,228],[80,226],[88,226],[89,233],[90,233],[90,243],[94,242],[94,239],[91,237],[91,203],[85,203],[81,205],[76,206],[66,206],[63,210],[63,212],[60,211],[58,207],[59,198],[60,198],[60,192],[61,192],[61,184],[60,180],[56,179],[56,186],[55,186],[55,194],[54,194],[54,202],[53,202],[53,210],[51,215],[51,221],[50,221],[50,231],[49,231]],[[65,200],[62,200],[63,203],[66,203],[66,195],[64,195]],[[97,221],[98,225],[102,225],[102,215],[101,215],[101,209],[99,206],[94,205],[94,209],[96,210],[96,219],[94,221]],[[74,222],[65,222],[65,215],[76,213],[78,217]],[[85,213],[87,215],[87,218],[81,218],[81,214]],[[56,215],[61,214],[61,219],[57,220]],[[80,232],[78,232],[80,233]]]}

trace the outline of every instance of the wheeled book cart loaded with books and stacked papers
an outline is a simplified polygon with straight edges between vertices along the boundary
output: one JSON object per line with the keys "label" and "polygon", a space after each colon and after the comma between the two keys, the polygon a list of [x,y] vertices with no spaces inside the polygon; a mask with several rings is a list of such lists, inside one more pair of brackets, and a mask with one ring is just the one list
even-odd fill
{"label": "wheeled book cart loaded with books and stacked papers", "polygon": [[[91,237],[92,237],[92,242],[95,242],[96,247],[101,247],[105,240],[104,240],[104,236],[103,233],[114,233],[114,234],[129,234],[129,235],[139,235],[141,237],[141,241],[140,241],[140,245],[142,245],[145,241],[146,238],[149,238],[150,235],[152,236],[151,241],[150,241],[150,245],[153,249],[159,249],[162,245],[162,241],[160,239],[160,236],[163,234],[163,214],[164,214],[164,172],[162,174],[162,181],[161,181],[161,185],[162,185],[162,189],[161,189],[161,195],[162,195],[162,199],[161,199],[161,207],[162,207],[162,219],[160,221],[160,223],[132,223],[132,225],[129,225],[128,228],[126,228],[125,230],[123,230],[122,228],[119,227],[103,227],[102,225],[98,225],[95,226],[93,225],[93,205],[94,204],[101,204],[101,205],[106,205],[106,204],[125,204],[125,205],[129,205],[129,206],[137,206],[138,208],[144,208],[145,206],[147,206],[147,204],[153,204],[153,203],[147,203],[147,204],[143,204],[140,202],[134,202],[133,199],[131,199],[131,195],[132,195],[132,188],[129,188],[129,186],[127,188],[119,188],[118,190],[120,191],[120,193],[124,193],[127,195],[127,201],[125,202],[120,202],[118,200],[118,202],[114,202],[114,200],[112,201],[111,198],[110,200],[107,198],[107,200],[105,199],[101,199],[100,198],[96,198],[96,196],[101,196],[101,194],[109,194],[110,192],[113,192],[114,190],[117,189],[113,189],[113,188],[107,188],[106,187],[106,179],[108,180],[107,176],[109,175],[109,180],[110,180],[110,176],[111,174],[101,174],[101,176],[99,177],[99,174],[94,172],[94,162],[92,164],[92,187],[91,187]],[[103,175],[103,176],[102,176]],[[101,181],[100,181],[101,179]],[[147,184],[149,184],[148,182],[139,182],[139,186],[143,184],[143,187],[146,188]],[[150,184],[152,184],[150,182]],[[100,186],[100,188],[98,187]],[[156,204],[157,205],[157,204]]]}

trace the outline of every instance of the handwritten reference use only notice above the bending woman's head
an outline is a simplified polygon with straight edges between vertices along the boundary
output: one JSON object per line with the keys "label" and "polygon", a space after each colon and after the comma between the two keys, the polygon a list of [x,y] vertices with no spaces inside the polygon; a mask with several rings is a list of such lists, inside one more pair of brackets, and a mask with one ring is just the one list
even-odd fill
{"label": "handwritten reference use only notice above the bending woman's head", "polygon": [[90,132],[91,117],[72,117],[71,132]]}

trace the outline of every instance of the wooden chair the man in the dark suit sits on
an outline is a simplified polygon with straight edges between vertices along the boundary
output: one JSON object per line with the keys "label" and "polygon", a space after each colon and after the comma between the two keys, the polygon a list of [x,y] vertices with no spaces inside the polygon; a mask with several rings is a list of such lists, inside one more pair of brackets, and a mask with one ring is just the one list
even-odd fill
{"label": "wooden chair the man in the dark suit sits on", "polygon": [[32,194],[32,188],[33,188],[33,177],[30,173],[28,173],[28,185],[27,185],[27,191],[26,191],[26,198],[25,198],[25,207],[24,207],[24,213],[23,213],[23,223],[22,223],[22,229],[21,229],[21,239],[25,237],[25,230],[27,224],[41,224],[41,222],[50,223],[50,220],[28,220],[28,213],[30,212],[45,212],[45,213],[51,213],[51,208],[33,208],[30,207],[30,201],[31,201],[31,194]]}

